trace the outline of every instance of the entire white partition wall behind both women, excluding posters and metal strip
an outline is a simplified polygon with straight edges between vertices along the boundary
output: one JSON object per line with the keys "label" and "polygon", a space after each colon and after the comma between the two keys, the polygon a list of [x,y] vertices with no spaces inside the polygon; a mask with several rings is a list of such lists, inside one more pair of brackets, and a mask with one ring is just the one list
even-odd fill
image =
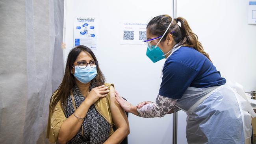
{"label": "entire white partition wall behind both women, excluding posters and metal strip", "polygon": [[[256,25],[247,20],[247,0],[177,0],[178,17],[186,18],[223,77],[256,89]],[[145,22],[172,16],[172,0],[67,0],[65,59],[74,46],[74,17],[96,17],[97,50],[93,52],[106,82],[129,102],[154,101],[164,60],[152,63],[146,46],[120,45],[119,22]],[[140,118],[129,114],[129,144],[171,144],[173,115]],[[178,113],[178,144],[186,144],[186,113]]]}

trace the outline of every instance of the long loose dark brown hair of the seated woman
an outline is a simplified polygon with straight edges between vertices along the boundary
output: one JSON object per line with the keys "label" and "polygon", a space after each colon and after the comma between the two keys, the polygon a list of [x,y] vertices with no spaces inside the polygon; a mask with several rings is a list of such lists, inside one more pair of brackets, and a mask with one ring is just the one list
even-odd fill
{"label": "long loose dark brown hair of the seated woman", "polygon": [[[59,85],[58,89],[54,92],[54,94],[52,94],[52,97],[50,100],[51,104],[49,106],[49,109],[51,109],[52,112],[53,112],[56,104],[59,102],[59,100],[64,100],[64,103],[66,102],[66,100],[70,94],[70,91],[72,90],[74,85],[76,85],[75,77],[73,74],[71,74],[70,71],[72,71],[72,65],[76,61],[76,58],[78,57],[78,55],[81,52],[89,53],[93,57],[93,60],[97,61],[97,59],[96,59],[95,55],[93,54],[93,52],[91,51],[91,49],[89,49],[83,45],[76,46],[69,52],[64,77],[63,77],[62,82]],[[98,87],[100,85],[104,85],[105,77],[102,74],[99,65],[97,66],[96,69],[97,69],[98,74],[95,76],[95,78],[92,81],[94,81],[96,87]]]}

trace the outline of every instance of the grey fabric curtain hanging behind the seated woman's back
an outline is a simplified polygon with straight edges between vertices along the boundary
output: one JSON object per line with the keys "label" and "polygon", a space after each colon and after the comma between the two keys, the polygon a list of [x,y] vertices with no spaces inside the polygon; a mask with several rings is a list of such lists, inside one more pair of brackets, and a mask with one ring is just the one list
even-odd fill
{"label": "grey fabric curtain hanging behind the seated woman's back", "polygon": [[64,0],[0,0],[0,144],[45,144],[63,77]]}

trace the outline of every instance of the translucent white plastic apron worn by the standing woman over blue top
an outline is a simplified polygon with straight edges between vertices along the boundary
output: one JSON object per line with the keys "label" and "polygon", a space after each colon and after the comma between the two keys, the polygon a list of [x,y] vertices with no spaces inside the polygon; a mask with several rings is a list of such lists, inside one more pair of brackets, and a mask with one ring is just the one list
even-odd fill
{"label": "translucent white plastic apron worn by the standing woman over blue top", "polygon": [[256,115],[236,82],[205,89],[188,87],[175,106],[187,113],[188,144],[251,143],[251,116]]}

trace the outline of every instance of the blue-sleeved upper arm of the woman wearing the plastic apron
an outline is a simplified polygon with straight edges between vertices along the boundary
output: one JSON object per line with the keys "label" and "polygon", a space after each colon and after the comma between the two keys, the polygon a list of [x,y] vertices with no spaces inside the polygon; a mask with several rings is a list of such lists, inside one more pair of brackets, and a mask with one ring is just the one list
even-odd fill
{"label": "blue-sleeved upper arm of the woman wearing the plastic apron", "polygon": [[167,61],[163,67],[159,95],[180,99],[197,74],[195,69],[182,62]]}

